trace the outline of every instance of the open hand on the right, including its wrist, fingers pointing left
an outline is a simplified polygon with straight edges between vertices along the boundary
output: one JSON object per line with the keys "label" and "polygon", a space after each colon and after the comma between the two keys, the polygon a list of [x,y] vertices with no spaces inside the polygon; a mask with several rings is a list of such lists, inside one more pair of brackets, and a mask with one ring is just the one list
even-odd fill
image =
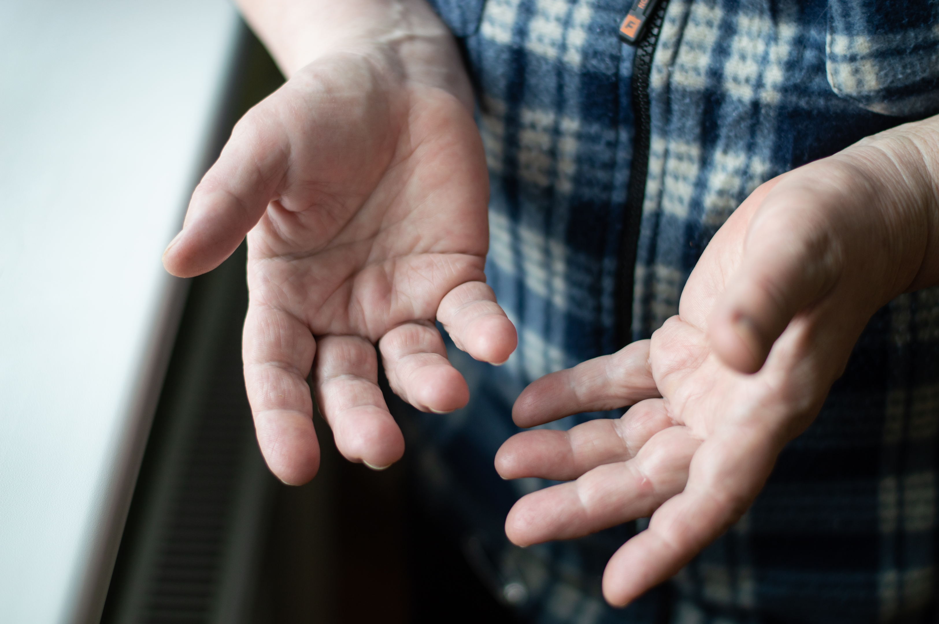
{"label": "open hand on the right, including its wrist, fingers pointing left", "polygon": [[576,479],[520,499],[509,539],[575,538],[652,515],[608,562],[614,605],[715,540],[814,419],[871,314],[939,283],[937,165],[931,119],[767,182],[716,233],[651,341],[526,388],[513,411],[523,427],[632,407],[505,442],[503,478]]}

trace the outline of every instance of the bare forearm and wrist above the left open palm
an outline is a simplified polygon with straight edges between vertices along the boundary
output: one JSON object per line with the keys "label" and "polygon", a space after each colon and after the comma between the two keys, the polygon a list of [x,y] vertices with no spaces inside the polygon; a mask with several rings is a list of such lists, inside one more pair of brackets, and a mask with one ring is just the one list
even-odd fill
{"label": "bare forearm and wrist above the left open palm", "polygon": [[425,0],[237,0],[287,77],[326,55],[354,53],[403,80],[437,86],[472,108],[453,35]]}

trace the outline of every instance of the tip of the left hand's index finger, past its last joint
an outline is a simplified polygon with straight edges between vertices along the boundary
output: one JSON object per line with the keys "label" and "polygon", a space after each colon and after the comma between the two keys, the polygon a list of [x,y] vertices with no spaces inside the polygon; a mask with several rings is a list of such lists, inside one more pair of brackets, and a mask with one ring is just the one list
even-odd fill
{"label": "tip of the left hand's index finger, past its last joint", "polygon": [[287,485],[302,485],[319,470],[313,420],[297,412],[271,410],[254,417],[257,442],[270,472]]}

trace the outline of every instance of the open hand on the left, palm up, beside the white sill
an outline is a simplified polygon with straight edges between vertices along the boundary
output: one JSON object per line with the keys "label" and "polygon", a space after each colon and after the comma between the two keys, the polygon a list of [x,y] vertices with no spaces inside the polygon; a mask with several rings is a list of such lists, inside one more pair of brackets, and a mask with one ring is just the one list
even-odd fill
{"label": "open hand on the left, palm up, beside the white sill", "polygon": [[[380,468],[404,439],[377,386],[376,342],[393,390],[434,412],[469,400],[435,319],[474,358],[499,363],[516,346],[485,285],[488,185],[469,87],[429,11],[421,28],[390,20],[367,43],[330,46],[246,114],[164,255],[171,273],[196,275],[248,233],[245,381],[261,450],[288,483],[319,462],[311,365],[338,449]],[[450,67],[415,61],[422,42]]]}

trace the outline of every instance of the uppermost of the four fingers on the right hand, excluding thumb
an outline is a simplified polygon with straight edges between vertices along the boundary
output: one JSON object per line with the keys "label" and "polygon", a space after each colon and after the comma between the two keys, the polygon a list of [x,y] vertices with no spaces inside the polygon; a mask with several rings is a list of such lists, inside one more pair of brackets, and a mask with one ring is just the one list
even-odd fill
{"label": "uppermost of the four fingers on the right hand, excluding thumb", "polygon": [[512,407],[519,427],[533,427],[580,412],[615,409],[660,396],[649,363],[649,341],[611,356],[549,373],[525,388]]}

